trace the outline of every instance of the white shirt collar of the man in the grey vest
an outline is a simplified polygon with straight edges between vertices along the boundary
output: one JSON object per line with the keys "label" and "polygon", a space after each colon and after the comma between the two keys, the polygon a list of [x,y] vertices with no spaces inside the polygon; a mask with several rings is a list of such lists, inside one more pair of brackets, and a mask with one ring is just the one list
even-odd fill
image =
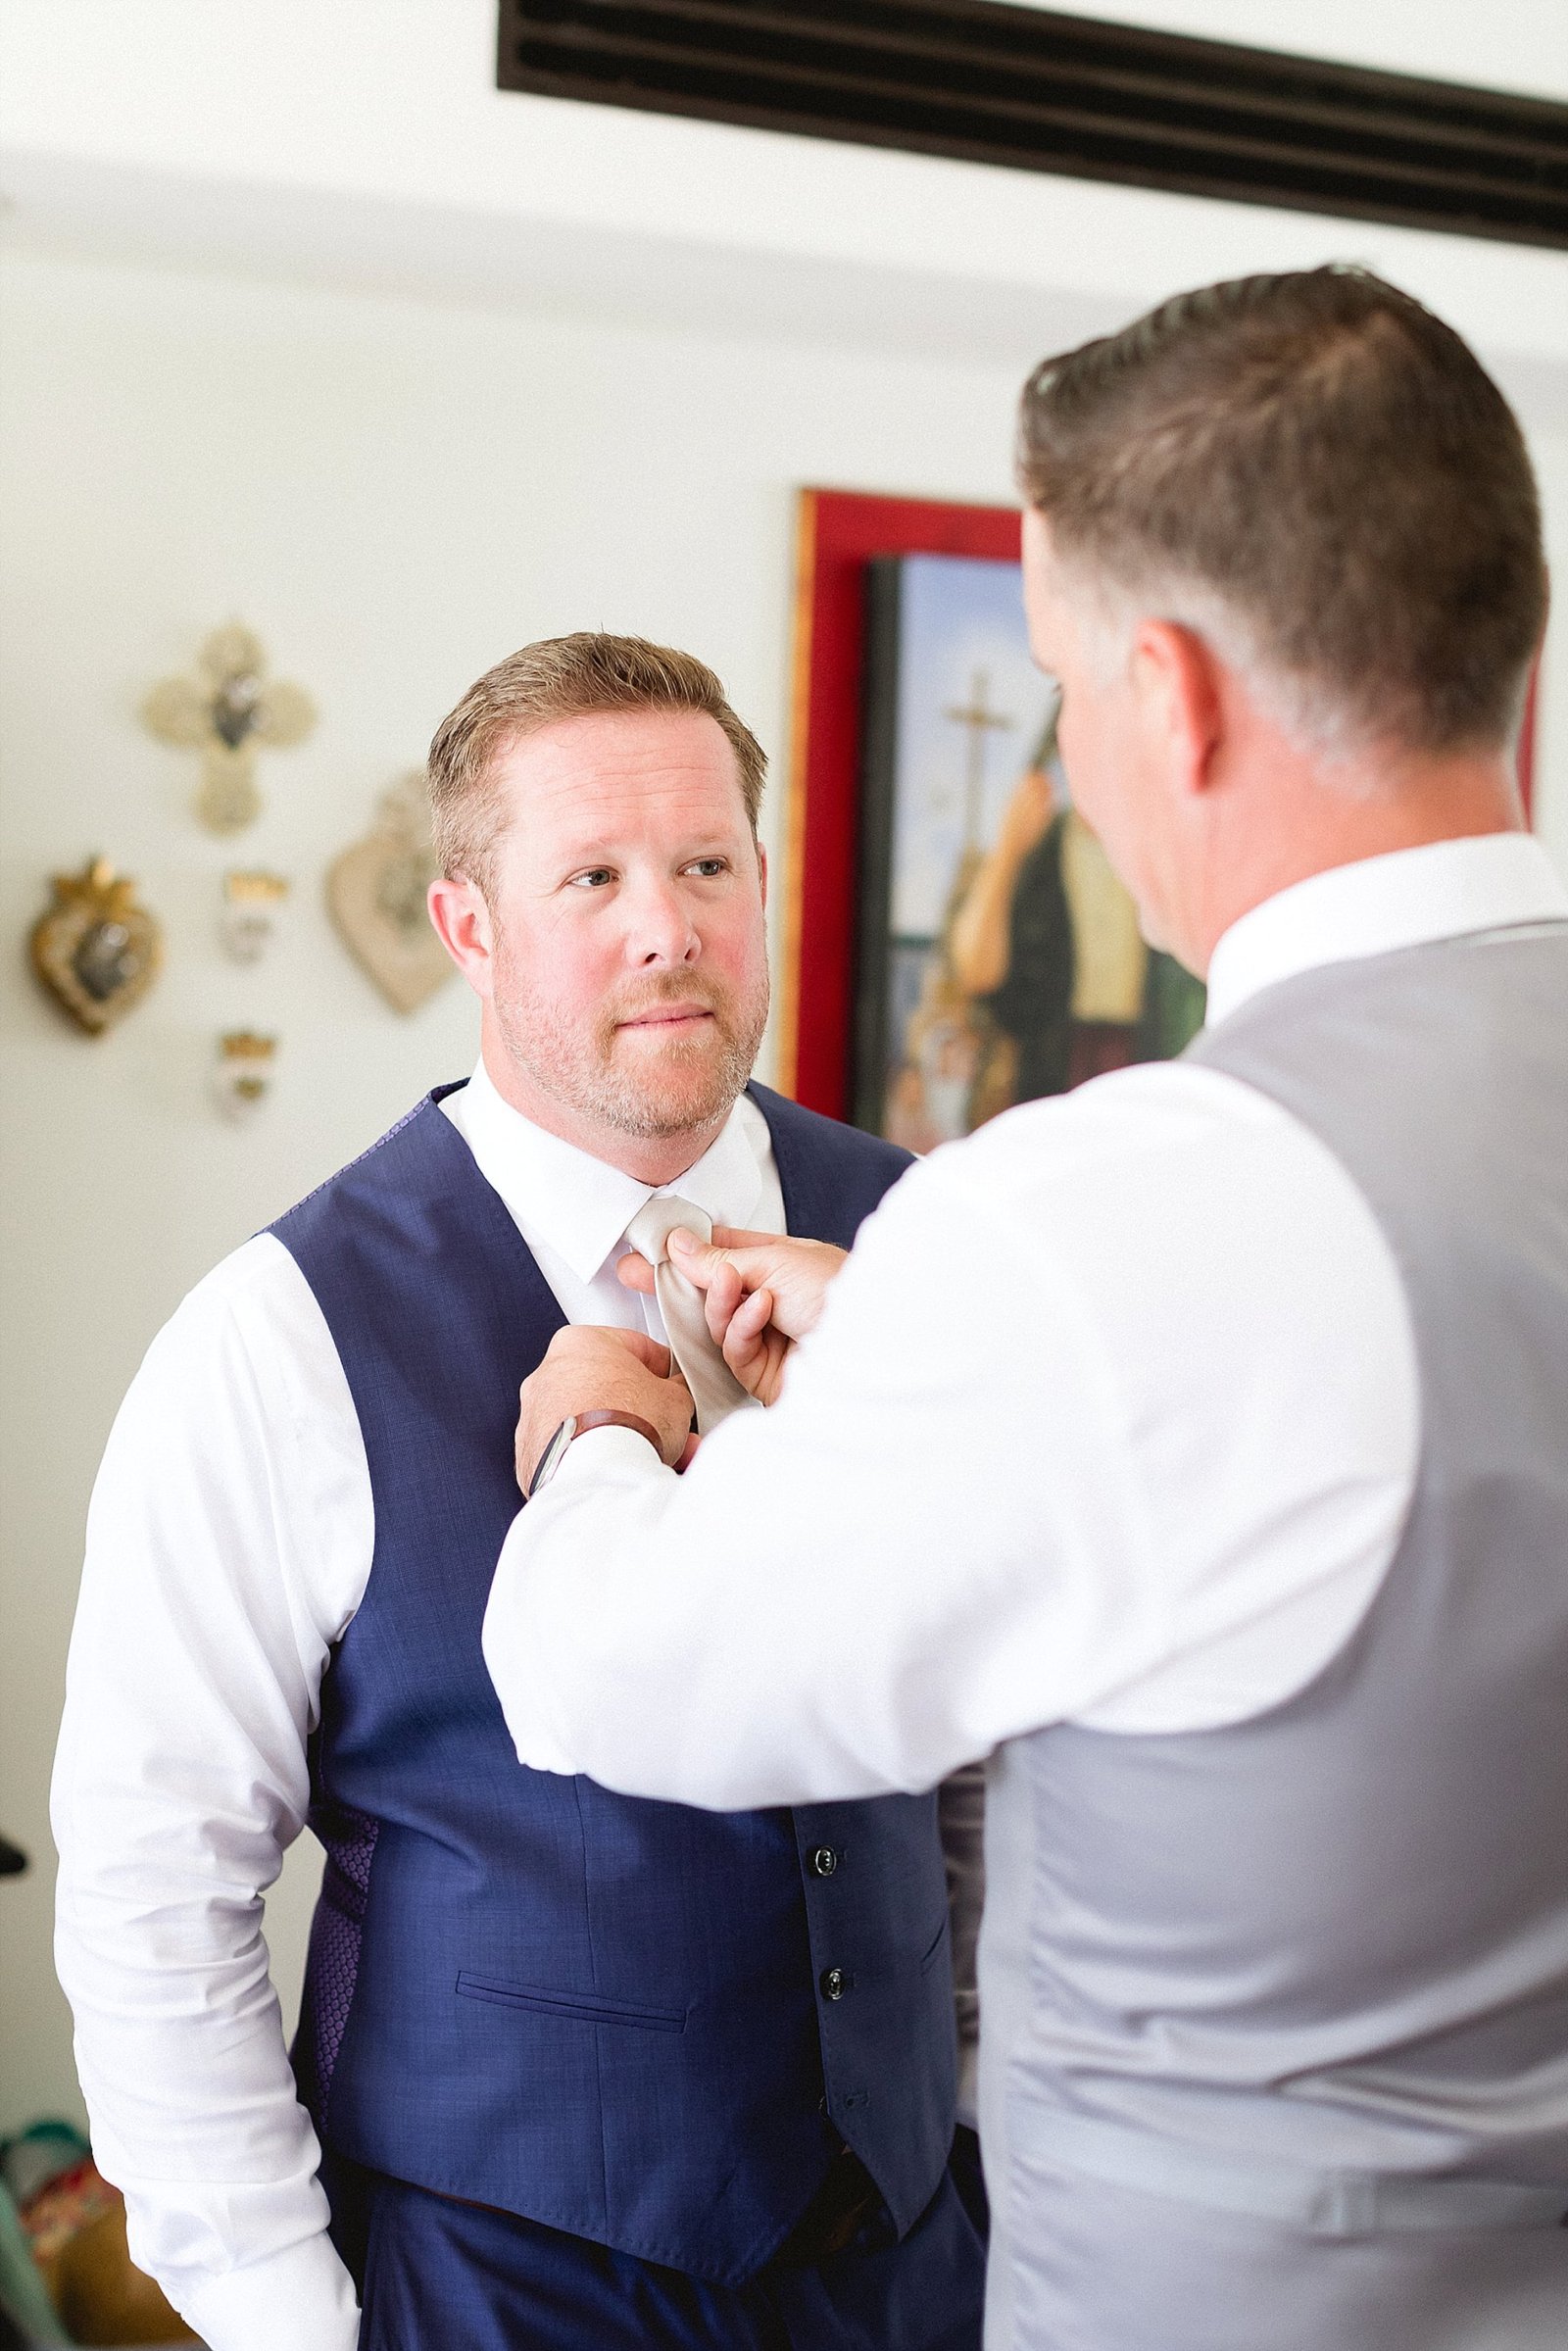
{"label": "white shirt collar of the man in the grey vest", "polygon": [[1319,964],[1566,917],[1568,891],[1528,832],[1425,842],[1335,865],[1232,922],[1208,964],[1208,1025]]}

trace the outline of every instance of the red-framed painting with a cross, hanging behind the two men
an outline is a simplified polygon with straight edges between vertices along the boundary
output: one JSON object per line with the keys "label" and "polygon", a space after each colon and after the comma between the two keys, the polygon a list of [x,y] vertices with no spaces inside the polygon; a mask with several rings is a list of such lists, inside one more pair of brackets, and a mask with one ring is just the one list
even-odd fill
{"label": "red-framed painting with a cross, hanging behind the two men", "polygon": [[799,498],[780,1084],[910,1150],[1204,1020],[1072,809],[1018,552],[1016,508]]}

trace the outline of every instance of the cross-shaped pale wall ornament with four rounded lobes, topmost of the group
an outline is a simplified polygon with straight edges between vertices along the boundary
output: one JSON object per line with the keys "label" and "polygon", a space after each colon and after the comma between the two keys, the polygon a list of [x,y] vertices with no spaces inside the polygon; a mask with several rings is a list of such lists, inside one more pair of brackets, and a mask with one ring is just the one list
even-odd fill
{"label": "cross-shaped pale wall ornament with four rounded lobes, topmost of the group", "polygon": [[202,752],[195,811],[212,832],[242,832],[261,816],[256,750],[287,750],[315,726],[303,686],[266,675],[261,639],[230,623],[197,654],[200,677],[165,677],[141,705],[160,743]]}

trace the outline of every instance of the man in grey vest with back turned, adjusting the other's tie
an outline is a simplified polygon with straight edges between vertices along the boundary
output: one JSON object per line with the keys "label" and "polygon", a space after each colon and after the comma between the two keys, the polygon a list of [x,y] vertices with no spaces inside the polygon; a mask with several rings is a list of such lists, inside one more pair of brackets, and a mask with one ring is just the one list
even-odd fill
{"label": "man in grey vest with back turned, adjusting the other's tie", "polygon": [[[1046,362],[1020,482],[1074,802],[1211,1025],[910,1173],[820,1328],[820,1253],[675,1239],[755,1392],[809,1342],[679,1483],[628,1432],[569,1446],[491,1672],[524,1761],[686,1803],[990,1756],[990,2351],[1561,2351],[1530,463],[1448,327],[1326,268]],[[520,1474],[567,1413],[679,1427],[644,1357],[557,1342]]]}

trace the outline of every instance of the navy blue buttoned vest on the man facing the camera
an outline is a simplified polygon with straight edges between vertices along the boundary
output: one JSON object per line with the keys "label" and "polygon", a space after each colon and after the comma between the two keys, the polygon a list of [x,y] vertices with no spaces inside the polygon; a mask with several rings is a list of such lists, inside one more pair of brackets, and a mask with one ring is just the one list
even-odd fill
{"label": "navy blue buttoned vest on the man facing the camera", "polygon": [[[936,1799],[719,1815],[517,1763],[480,1625],[562,1312],[437,1100],[273,1227],[376,1509],[313,1747],[301,2095],[355,2163],[703,2278],[759,2269],[839,2142],[905,2233],[952,2137]],[[905,1154],[755,1100],[790,1232],[853,1241]]]}

